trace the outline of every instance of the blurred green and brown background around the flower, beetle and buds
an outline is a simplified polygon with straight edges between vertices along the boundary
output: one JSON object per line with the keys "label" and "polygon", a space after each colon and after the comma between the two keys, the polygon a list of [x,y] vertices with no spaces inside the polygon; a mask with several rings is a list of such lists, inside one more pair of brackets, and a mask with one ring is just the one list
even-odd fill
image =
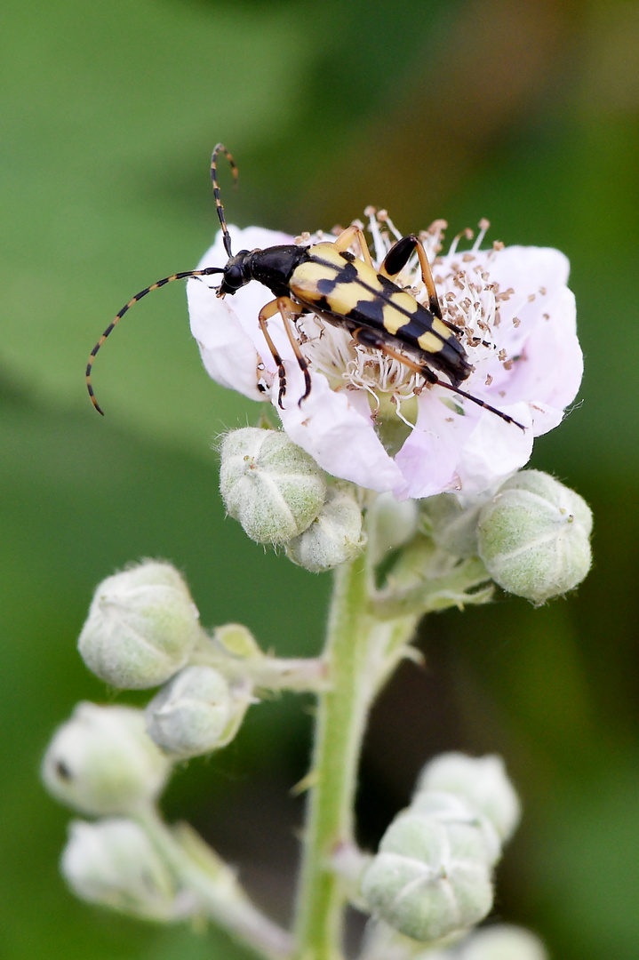
{"label": "blurred green and brown background around the flower, beetle and buds", "polygon": [[[541,610],[502,598],[429,620],[426,669],[402,667],[372,717],[360,820],[374,843],[438,751],[502,753],[525,817],[495,916],[530,924],[557,960],[636,960],[639,6],[5,0],[0,44],[0,954],[242,955],[215,932],[74,900],[57,871],[68,814],[37,778],[74,703],[109,696],[75,639],[95,584],[130,560],[178,564],[205,624],[241,618],[278,653],[319,649],[329,578],[225,520],[210,445],[257,408],[202,372],[178,284],[101,354],[105,420],[83,386],[121,304],[209,244],[223,139],[241,174],[230,193],[223,172],[231,224],[331,228],[372,203],[406,232],[487,216],[493,239],[569,255],[583,402],[532,464],[591,503],[595,565]],[[310,706],[251,710],[165,803],[282,920]]]}

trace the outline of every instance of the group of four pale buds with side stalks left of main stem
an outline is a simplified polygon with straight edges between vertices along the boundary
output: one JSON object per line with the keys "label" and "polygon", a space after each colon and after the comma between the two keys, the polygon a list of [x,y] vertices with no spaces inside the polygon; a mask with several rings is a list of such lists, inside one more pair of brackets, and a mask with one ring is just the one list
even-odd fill
{"label": "group of four pale buds with side stalks left of main stem", "polygon": [[[154,846],[155,804],[174,763],[225,746],[255,702],[254,687],[316,689],[323,664],[270,657],[241,624],[205,634],[178,570],[153,561],[99,585],[79,646],[87,666],[113,686],[164,685],[146,709],[81,703],[54,734],[42,761],[45,785],[62,803],[105,818],[72,825],[62,872],[84,900],[133,916],[193,914],[201,903],[175,880],[174,841],[165,836],[168,859]],[[198,873],[201,855],[194,855]],[[184,856],[188,873],[190,854],[178,853]],[[220,898],[235,898],[227,879],[218,883],[219,872],[215,866],[208,877],[216,909]]]}

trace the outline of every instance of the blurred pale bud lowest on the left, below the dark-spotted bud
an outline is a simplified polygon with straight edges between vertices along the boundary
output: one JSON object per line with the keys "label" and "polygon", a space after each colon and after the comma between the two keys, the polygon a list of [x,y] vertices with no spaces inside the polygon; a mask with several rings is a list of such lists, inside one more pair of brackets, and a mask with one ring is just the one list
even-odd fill
{"label": "blurred pale bud lowest on the left, below the dark-spotted bud", "polygon": [[166,865],[144,830],[131,820],[71,823],[60,869],[81,900],[132,917],[178,920],[195,907],[188,894],[177,896]]}

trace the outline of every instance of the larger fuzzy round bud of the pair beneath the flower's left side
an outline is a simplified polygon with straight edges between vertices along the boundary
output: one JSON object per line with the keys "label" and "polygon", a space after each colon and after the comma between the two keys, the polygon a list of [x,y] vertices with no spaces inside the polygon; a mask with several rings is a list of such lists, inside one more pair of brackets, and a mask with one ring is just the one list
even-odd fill
{"label": "larger fuzzy round bud of the pair beneath the flower's left side", "polygon": [[318,516],[326,479],[313,457],[278,430],[244,427],[222,444],[226,511],[258,543],[286,543]]}

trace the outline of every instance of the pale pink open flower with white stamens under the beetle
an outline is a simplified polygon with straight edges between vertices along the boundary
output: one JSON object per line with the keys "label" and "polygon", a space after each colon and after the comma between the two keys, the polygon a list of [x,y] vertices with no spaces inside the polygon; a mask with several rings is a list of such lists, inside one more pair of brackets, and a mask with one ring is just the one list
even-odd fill
{"label": "pale pink open flower with white stamens under the beetle", "polygon": [[[449,252],[438,254],[441,222],[422,238],[444,319],[459,327],[474,367],[462,389],[525,431],[450,390],[424,387],[419,374],[379,350],[354,344],[347,330],[313,314],[296,321],[312,378],[311,394],[301,405],[304,383],[293,349],[279,316],[269,322],[287,376],[284,409],[277,408],[277,371],[257,323],[272,293],[255,281],[219,299],[215,289],[189,280],[191,329],[204,367],[225,387],[270,399],[291,439],[334,476],[400,499],[485,492],[523,467],[534,437],[562,420],[582,372],[575,298],[566,286],[568,260],[547,248],[495,244],[480,250],[485,226],[466,252],[458,252],[454,241]],[[394,242],[389,229],[399,235],[388,218],[371,213],[377,266]],[[237,250],[292,242],[261,228],[230,228],[230,233]],[[199,268],[225,261],[219,233]],[[428,303],[416,257],[397,280]]]}

